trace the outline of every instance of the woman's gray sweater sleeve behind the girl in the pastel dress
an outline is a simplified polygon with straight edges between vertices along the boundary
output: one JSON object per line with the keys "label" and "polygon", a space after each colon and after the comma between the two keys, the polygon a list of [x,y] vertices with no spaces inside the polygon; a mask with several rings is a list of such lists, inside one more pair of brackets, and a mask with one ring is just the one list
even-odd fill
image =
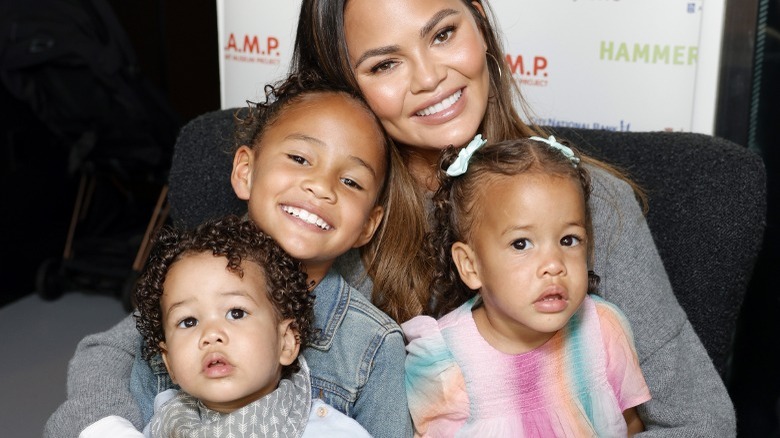
{"label": "woman's gray sweater sleeve behind the girl in the pastel dress", "polygon": [[600,295],[625,313],[652,399],[643,437],[734,436],[731,399],[675,298],[631,187],[591,170],[590,206]]}

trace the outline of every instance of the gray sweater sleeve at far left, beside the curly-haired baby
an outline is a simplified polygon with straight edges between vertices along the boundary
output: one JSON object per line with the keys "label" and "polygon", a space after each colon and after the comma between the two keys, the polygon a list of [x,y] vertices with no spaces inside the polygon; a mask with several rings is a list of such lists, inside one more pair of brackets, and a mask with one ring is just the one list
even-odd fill
{"label": "gray sweater sleeve at far left, beside the curly-haired baby", "polygon": [[109,416],[140,430],[141,411],[130,393],[130,370],[138,331],[132,316],[79,342],[68,365],[67,399],[49,417],[44,437],[75,437]]}

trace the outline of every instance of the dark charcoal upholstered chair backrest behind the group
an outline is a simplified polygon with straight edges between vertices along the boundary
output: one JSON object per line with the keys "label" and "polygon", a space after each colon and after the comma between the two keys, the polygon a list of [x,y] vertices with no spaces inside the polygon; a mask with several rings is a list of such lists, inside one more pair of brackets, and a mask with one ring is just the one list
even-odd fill
{"label": "dark charcoal upholstered chair backrest behind the group", "polygon": [[[179,134],[168,194],[176,223],[191,227],[246,211],[229,178],[234,112],[204,114]],[[627,171],[647,192],[647,221],[675,295],[725,378],[765,227],[761,158],[702,134],[555,131]]]}

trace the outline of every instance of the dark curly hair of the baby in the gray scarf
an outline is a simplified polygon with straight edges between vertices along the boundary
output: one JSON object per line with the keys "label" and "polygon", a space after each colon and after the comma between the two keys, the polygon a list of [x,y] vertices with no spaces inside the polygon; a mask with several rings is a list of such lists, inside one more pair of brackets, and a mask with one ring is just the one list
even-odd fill
{"label": "dark curly hair of the baby in the gray scarf", "polygon": [[[311,335],[314,297],[306,274],[270,236],[246,219],[230,215],[205,222],[194,230],[164,227],[155,236],[149,259],[135,290],[136,327],[144,338],[143,357],[160,353],[165,340],[160,298],[163,283],[174,263],[187,255],[211,253],[227,259],[227,269],[243,277],[243,262],[256,263],[263,270],[266,293],[279,320],[292,319],[301,346]],[[298,371],[297,361],[282,370],[282,377]]]}

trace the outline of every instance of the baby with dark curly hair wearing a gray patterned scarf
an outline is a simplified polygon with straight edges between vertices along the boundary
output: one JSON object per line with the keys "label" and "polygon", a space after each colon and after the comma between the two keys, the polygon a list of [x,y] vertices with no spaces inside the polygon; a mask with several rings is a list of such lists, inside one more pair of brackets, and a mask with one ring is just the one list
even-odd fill
{"label": "baby with dark curly hair wearing a gray patterned scarf", "polygon": [[182,389],[158,396],[147,436],[368,436],[312,400],[306,275],[252,222],[163,229],[136,301],[144,356],[161,353]]}

